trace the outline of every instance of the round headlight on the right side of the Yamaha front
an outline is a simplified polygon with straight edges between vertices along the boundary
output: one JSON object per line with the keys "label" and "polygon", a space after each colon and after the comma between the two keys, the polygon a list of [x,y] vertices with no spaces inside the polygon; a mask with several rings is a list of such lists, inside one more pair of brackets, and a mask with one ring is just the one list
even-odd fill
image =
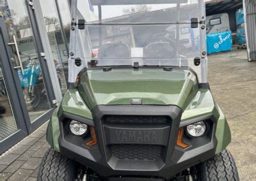
{"label": "round headlight on the right side of the Yamaha front", "polygon": [[204,121],[196,122],[195,124],[190,124],[187,126],[187,132],[190,136],[199,137],[202,136],[206,131],[206,126]]}

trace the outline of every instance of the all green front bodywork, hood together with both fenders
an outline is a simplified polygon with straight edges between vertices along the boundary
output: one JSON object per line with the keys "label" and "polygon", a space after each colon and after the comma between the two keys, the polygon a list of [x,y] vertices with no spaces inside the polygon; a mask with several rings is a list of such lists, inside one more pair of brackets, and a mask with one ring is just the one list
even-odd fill
{"label": "all green front bodywork, hood together with both fenders", "polygon": [[209,89],[199,89],[196,76],[189,70],[163,71],[159,68],[114,68],[85,71],[80,75],[78,89],[70,89],[52,115],[47,129],[47,141],[59,150],[62,112],[92,120],[90,110],[96,105],[130,105],[131,99],[143,99],[143,105],[177,105],[182,108],[181,121],[203,115],[214,115],[218,120],[216,154],[230,143],[230,129],[223,113]]}

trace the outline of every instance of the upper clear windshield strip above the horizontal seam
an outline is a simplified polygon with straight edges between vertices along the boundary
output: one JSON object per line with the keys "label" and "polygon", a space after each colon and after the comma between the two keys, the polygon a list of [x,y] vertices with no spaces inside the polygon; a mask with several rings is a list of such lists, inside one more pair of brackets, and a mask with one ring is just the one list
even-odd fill
{"label": "upper clear windshield strip above the horizontal seam", "polygon": [[177,8],[178,3],[172,3],[173,1],[165,1],[166,3],[150,1],[154,2],[152,4],[147,4],[148,1],[130,1],[132,3],[114,3],[115,5],[109,2],[103,0],[77,0],[77,18],[84,18],[86,22],[97,23],[100,20],[99,7],[101,20],[104,23],[188,22],[191,17],[199,17],[198,0],[175,1],[180,3],[179,8]]}

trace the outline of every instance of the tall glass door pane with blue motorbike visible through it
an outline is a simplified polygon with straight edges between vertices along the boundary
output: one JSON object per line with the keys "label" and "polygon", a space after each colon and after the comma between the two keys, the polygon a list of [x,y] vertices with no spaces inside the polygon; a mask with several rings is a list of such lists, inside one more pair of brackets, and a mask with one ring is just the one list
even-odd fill
{"label": "tall glass door pane with blue motorbike visible through it", "polygon": [[13,36],[17,39],[19,52],[13,47],[13,55],[16,56],[16,62],[19,62],[17,61],[18,54],[22,61],[24,75],[18,70],[20,85],[30,120],[33,121],[47,112],[50,105],[45,91],[42,69],[40,68],[25,1],[0,0],[0,11],[4,13],[10,41],[13,42]]}

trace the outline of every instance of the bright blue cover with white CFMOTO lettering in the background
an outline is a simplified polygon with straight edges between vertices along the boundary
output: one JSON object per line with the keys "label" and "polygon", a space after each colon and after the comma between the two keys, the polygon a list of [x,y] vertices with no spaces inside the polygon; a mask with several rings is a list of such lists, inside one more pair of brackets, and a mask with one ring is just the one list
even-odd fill
{"label": "bright blue cover with white CFMOTO lettering in the background", "polygon": [[231,31],[207,34],[206,45],[208,54],[232,50]]}

